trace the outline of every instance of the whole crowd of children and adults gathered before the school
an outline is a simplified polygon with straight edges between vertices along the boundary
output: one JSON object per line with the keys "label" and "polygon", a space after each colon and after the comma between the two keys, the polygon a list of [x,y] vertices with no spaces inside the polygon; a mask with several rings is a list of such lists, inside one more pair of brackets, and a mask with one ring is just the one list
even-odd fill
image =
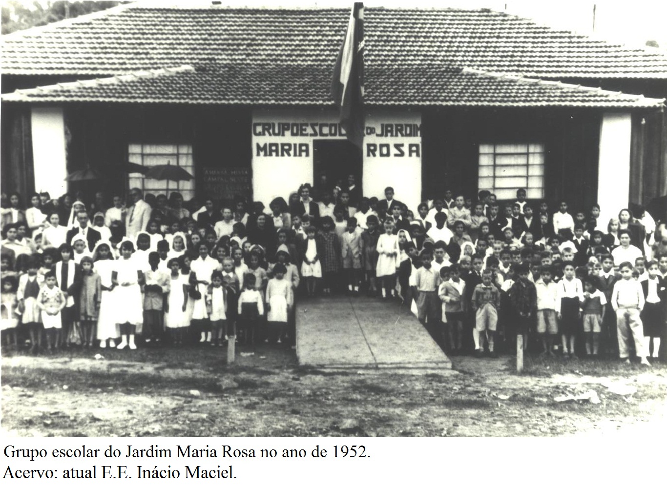
{"label": "whole crowd of children and adults gathered before the school", "polygon": [[295,300],[332,293],[406,303],[453,354],[496,355],[522,335],[545,354],[634,351],[648,364],[667,328],[667,232],[643,209],[602,223],[597,205],[573,217],[519,189],[504,205],[446,191],[415,214],[391,187],[363,197],[352,175],[267,211],[129,196],[35,193],[23,209],[2,195],[3,344],[293,345]]}

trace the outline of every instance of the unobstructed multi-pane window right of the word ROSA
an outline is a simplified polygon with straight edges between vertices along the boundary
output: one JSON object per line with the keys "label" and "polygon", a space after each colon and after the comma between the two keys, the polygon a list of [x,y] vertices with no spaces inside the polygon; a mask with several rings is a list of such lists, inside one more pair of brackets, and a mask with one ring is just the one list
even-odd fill
{"label": "unobstructed multi-pane window right of the word ROSA", "polygon": [[519,188],[529,199],[544,198],[544,145],[480,144],[478,186],[499,200],[516,198]]}

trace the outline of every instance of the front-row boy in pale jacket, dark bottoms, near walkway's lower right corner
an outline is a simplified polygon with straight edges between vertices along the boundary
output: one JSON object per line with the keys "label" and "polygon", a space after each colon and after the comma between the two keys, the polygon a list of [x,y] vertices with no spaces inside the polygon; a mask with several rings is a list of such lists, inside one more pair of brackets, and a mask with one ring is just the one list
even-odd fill
{"label": "front-row boy in pale jacket, dark bottoms, near walkway's lower right corner", "polygon": [[461,279],[461,270],[458,263],[449,267],[449,279],[444,280],[447,268],[440,268],[440,278],[443,280],[438,289],[438,296],[443,302],[443,314],[446,319],[446,329],[449,338],[450,352],[458,355],[463,350],[463,321],[466,312],[464,293],[466,283]]}

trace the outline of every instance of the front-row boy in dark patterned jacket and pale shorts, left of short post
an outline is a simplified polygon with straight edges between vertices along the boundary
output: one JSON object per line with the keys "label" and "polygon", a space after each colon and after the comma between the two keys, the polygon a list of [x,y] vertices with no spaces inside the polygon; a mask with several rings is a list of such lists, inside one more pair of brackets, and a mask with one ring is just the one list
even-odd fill
{"label": "front-row boy in dark patterned jacket and pale shorts, left of short post", "polygon": [[475,312],[475,328],[472,339],[475,342],[475,355],[484,355],[484,336],[489,344],[489,355],[496,357],[494,351],[496,327],[498,326],[498,309],[500,308],[500,290],[492,283],[493,273],[490,269],[482,272],[482,283],[472,292],[472,310]]}

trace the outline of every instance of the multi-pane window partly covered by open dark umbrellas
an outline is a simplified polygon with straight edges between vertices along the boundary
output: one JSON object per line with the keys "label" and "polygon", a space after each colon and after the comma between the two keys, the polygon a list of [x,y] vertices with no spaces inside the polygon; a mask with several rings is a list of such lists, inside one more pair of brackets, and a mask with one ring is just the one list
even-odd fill
{"label": "multi-pane window partly covered by open dark umbrellas", "polygon": [[[129,162],[142,166],[177,165],[195,176],[192,159],[192,146],[189,144],[130,144]],[[169,181],[143,178],[139,173],[131,173],[128,177],[130,188],[141,188],[144,193],[159,195],[177,191],[188,201],[195,196],[195,181]]]}

